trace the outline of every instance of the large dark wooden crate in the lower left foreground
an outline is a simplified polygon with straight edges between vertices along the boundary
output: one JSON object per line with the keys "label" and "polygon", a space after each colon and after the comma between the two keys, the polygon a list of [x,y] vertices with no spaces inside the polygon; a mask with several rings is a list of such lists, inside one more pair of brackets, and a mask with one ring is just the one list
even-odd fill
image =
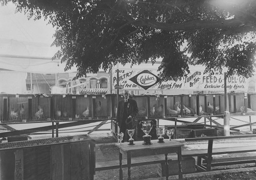
{"label": "large dark wooden crate in the lower left foreground", "polygon": [[0,144],[0,179],[93,179],[95,141],[86,136]]}

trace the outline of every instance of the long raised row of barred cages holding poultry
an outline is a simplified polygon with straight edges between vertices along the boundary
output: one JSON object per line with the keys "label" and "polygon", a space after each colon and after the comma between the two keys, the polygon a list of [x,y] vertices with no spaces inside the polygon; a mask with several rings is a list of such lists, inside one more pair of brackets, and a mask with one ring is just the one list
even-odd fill
{"label": "long raised row of barred cages holding poultry", "polygon": [[[227,94],[229,112],[255,113],[256,94]],[[119,99],[123,98],[119,95]],[[138,118],[223,114],[224,94],[133,95]],[[0,120],[115,118],[117,95],[0,94]]]}

